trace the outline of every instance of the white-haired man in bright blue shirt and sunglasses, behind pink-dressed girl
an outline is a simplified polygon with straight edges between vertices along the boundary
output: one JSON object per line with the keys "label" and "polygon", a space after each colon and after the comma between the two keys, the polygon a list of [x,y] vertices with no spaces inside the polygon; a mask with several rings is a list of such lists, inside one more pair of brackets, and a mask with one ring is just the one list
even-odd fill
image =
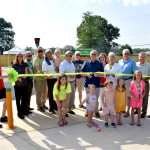
{"label": "white-haired man in bright blue shirt and sunglasses, behind pink-dressed girl", "polygon": [[[123,59],[119,60],[119,64],[121,65],[123,74],[133,74],[136,70],[136,62],[130,58],[130,51],[128,49],[124,49],[122,51]],[[131,105],[131,95],[129,93],[130,82],[132,81],[132,76],[123,76],[125,79],[125,86],[127,88],[127,112],[124,114],[124,117],[129,116],[130,105]]]}

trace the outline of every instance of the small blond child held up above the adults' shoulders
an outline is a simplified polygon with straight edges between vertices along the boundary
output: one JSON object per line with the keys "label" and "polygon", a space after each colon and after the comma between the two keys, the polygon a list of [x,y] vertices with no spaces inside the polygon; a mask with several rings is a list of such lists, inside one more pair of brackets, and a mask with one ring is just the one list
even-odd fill
{"label": "small blond child held up above the adults' shoulders", "polygon": [[54,52],[54,65],[56,67],[56,72],[59,72],[59,66],[62,62],[62,59],[61,59],[61,52],[60,52],[60,49],[59,48],[56,48],[55,52]]}

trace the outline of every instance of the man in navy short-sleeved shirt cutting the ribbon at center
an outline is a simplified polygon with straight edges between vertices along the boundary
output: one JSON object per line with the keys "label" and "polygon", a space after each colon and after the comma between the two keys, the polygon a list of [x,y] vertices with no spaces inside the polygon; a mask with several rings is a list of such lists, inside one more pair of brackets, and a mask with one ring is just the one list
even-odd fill
{"label": "man in navy short-sleeved shirt cutting the ribbon at center", "polygon": [[96,58],[97,58],[97,51],[96,50],[92,50],[90,53],[90,60],[84,62],[82,68],[81,68],[81,72],[94,72],[94,74],[84,74],[83,76],[86,76],[85,79],[85,90],[86,90],[86,94],[89,93],[88,91],[88,85],[89,84],[94,84],[96,86],[96,100],[97,100],[97,107],[95,109],[95,116],[97,118],[100,117],[100,114],[98,112],[98,107],[99,107],[99,103],[98,103],[98,97],[99,97],[99,93],[100,93],[100,84],[101,84],[101,77],[103,76],[103,74],[98,74],[95,72],[104,72],[104,67],[103,64],[101,62],[99,62]]}

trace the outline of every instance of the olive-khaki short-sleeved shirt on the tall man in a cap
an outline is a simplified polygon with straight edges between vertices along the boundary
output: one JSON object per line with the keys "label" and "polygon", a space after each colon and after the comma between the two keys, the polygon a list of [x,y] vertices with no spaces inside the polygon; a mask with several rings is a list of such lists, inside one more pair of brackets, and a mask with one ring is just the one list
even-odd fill
{"label": "olive-khaki short-sleeved shirt on the tall man in a cap", "polygon": [[[39,71],[42,72],[42,63],[44,61],[44,57],[41,59],[39,56],[36,56],[33,60],[33,67],[34,67],[34,73],[37,74],[37,70],[35,69],[35,66],[39,66]],[[45,80],[45,77],[39,76],[36,77],[36,80]]]}

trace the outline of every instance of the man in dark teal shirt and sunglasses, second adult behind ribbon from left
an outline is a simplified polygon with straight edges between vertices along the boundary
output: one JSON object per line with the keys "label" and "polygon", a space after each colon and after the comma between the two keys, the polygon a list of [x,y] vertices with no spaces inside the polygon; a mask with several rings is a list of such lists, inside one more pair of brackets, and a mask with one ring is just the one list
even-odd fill
{"label": "man in dark teal shirt and sunglasses, second adult behind ribbon from left", "polygon": [[[27,51],[25,62],[28,64],[28,74],[33,74],[33,64],[32,64],[32,53]],[[33,77],[27,77],[27,108],[29,110],[34,110],[30,107],[31,95],[33,89]]]}

